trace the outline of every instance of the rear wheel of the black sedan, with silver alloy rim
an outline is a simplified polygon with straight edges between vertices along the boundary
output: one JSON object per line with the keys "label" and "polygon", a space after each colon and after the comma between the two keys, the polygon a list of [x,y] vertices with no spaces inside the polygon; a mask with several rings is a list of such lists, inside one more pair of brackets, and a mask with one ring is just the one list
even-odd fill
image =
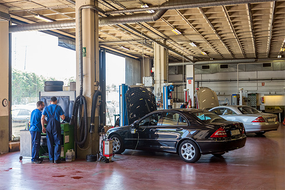
{"label": "rear wheel of the black sedan, with silver alloy rim", "polygon": [[183,161],[194,163],[200,159],[201,152],[193,141],[186,140],[179,146],[179,155]]}

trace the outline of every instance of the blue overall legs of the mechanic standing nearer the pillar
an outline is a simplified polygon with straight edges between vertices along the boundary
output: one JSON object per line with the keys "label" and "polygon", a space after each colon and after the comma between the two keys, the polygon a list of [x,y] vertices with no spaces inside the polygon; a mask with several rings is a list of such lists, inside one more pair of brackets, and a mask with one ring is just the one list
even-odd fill
{"label": "blue overall legs of the mechanic standing nearer the pillar", "polygon": [[[52,126],[46,130],[47,148],[49,160],[58,160],[61,156],[61,128]],[[53,146],[54,145],[54,146]]]}

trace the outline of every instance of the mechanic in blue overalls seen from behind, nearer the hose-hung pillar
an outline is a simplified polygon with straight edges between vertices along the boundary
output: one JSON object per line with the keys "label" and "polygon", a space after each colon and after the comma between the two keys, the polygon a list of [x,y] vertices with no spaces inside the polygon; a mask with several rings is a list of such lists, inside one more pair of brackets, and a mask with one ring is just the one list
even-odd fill
{"label": "mechanic in blue overalls seen from behind, nearer the hose-hung pillar", "polygon": [[[65,119],[64,111],[60,105],[57,105],[58,99],[55,96],[50,98],[50,105],[44,108],[41,123],[43,132],[46,132],[47,148],[49,154],[49,162],[60,164],[61,159],[61,122]],[[44,127],[45,117],[47,117],[47,125]],[[53,147],[54,145],[54,147]]]}

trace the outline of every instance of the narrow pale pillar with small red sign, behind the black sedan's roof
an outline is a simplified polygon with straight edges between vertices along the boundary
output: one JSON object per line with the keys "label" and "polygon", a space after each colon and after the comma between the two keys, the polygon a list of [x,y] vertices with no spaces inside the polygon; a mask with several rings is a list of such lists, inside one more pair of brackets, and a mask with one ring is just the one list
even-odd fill
{"label": "narrow pale pillar with small red sign, behind the black sedan's roof", "polygon": [[186,89],[189,89],[189,96],[191,100],[191,107],[194,107],[194,93],[195,93],[195,73],[194,65],[186,65]]}

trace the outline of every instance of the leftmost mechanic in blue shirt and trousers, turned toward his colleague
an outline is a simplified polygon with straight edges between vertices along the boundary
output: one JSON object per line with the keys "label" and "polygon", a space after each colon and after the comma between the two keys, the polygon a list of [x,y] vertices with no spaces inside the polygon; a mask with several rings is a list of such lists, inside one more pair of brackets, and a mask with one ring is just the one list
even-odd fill
{"label": "leftmost mechanic in blue shirt and trousers, turned toward his colleague", "polygon": [[31,126],[30,126],[30,133],[32,137],[31,161],[33,164],[41,164],[41,162],[43,161],[39,157],[41,132],[42,132],[41,116],[43,108],[44,108],[44,102],[38,101],[37,108],[31,114]]}

